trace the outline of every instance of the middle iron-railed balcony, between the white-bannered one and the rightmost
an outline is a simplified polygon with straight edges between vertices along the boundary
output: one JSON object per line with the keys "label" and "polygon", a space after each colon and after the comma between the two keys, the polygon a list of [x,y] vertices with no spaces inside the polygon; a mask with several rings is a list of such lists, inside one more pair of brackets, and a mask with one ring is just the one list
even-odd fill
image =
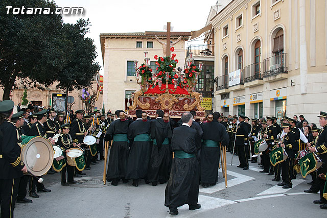
{"label": "middle iron-railed balcony, between the white-bannered one and the rightmost", "polygon": [[244,87],[263,84],[262,62],[250,64],[243,69]]}

